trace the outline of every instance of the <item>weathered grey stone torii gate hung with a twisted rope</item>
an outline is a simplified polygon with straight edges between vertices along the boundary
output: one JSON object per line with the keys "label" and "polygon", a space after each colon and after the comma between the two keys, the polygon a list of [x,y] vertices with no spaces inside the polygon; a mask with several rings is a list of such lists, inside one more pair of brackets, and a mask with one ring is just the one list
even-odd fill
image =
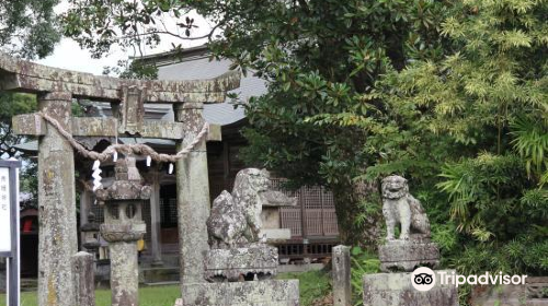
{"label": "weathered grey stone torii gate hung with a twisted rope", "polygon": [[[210,80],[142,81],[96,76],[19,60],[0,54],[0,91],[35,93],[38,110],[56,119],[71,136],[172,139],[178,150],[193,142],[205,120],[204,103],[221,103],[239,87],[229,72]],[[113,118],[71,116],[73,98],[110,102]],[[145,121],[145,103],[172,104],[175,122]],[[75,306],[71,258],[77,254],[73,149],[39,114],[13,118],[18,134],[38,138],[38,305]],[[208,140],[220,140],[210,127]],[[207,155],[202,141],[176,162],[181,285],[203,282],[208,250],[209,215]]]}

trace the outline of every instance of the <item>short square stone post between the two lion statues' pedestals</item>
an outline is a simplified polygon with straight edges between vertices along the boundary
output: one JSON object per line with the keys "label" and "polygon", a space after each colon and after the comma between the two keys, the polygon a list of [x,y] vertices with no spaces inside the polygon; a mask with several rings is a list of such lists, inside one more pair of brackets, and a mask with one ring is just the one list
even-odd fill
{"label": "short square stone post between the two lion statues' pedestals", "polygon": [[350,247],[333,247],[333,306],[352,305]]}

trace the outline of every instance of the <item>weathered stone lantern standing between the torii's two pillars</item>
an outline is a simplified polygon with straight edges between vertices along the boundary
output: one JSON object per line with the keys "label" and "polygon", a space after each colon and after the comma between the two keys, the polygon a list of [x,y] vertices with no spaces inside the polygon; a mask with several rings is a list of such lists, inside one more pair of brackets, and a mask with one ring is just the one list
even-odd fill
{"label": "weathered stone lantern standing between the torii's two pillars", "polygon": [[135,157],[116,162],[111,187],[95,191],[104,202],[101,235],[109,242],[111,257],[112,306],[137,306],[139,267],[137,242],[147,232],[142,221],[142,202],[150,199],[151,188],[141,185]]}

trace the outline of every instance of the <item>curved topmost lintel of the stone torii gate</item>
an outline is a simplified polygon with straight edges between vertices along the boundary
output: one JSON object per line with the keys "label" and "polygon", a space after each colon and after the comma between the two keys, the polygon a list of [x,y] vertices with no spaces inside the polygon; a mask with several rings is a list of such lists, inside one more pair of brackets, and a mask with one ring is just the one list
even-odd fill
{"label": "curved topmost lintel of the stone torii gate", "polygon": [[124,89],[147,89],[147,103],[221,103],[226,92],[240,85],[240,74],[227,72],[210,80],[145,81],[96,76],[20,60],[0,52],[0,91],[69,92],[75,97],[121,101]]}

